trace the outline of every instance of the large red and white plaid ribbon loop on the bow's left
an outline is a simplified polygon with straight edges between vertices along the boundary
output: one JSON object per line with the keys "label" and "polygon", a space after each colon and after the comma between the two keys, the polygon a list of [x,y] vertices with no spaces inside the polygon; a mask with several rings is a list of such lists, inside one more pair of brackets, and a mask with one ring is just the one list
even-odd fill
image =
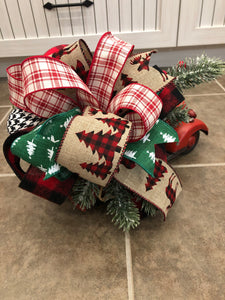
{"label": "large red and white plaid ribbon loop on the bow's left", "polygon": [[80,89],[80,106],[98,105],[88,87],[73,69],[54,58],[31,57],[23,62],[21,69],[17,65],[16,69],[15,66],[11,66],[7,71],[11,103],[40,117],[49,118],[77,106],[76,100],[59,93],[56,89]]}

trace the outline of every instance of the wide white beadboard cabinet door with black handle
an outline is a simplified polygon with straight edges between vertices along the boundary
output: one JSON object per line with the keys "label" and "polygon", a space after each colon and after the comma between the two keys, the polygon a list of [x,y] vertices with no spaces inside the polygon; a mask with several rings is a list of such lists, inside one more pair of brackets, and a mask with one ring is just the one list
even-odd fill
{"label": "wide white beadboard cabinet door with black handle", "polygon": [[[76,3],[83,0],[49,0]],[[0,0],[0,57],[42,54],[83,38],[94,51],[104,32],[136,49],[176,46],[180,0],[92,0],[86,7],[43,8],[47,0]]]}

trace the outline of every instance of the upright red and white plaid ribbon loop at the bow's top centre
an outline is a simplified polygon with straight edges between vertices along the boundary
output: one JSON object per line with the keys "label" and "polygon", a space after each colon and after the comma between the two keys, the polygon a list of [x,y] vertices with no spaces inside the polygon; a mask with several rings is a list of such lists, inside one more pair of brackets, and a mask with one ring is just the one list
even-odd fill
{"label": "upright red and white plaid ribbon loop at the bow's top centre", "polygon": [[89,71],[87,85],[107,111],[113,88],[133,46],[107,32],[100,39]]}

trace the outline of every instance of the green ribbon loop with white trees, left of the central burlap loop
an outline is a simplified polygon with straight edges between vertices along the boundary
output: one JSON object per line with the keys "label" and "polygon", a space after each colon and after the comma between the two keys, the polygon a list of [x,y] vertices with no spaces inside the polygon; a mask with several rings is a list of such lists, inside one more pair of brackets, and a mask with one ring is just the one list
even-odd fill
{"label": "green ribbon loop with white trees, left of the central burlap loop", "polygon": [[79,108],[55,115],[29,133],[17,138],[11,151],[31,165],[46,172],[45,178],[55,176],[64,180],[71,175],[65,167],[55,161],[63,134],[71,119],[80,114]]}

